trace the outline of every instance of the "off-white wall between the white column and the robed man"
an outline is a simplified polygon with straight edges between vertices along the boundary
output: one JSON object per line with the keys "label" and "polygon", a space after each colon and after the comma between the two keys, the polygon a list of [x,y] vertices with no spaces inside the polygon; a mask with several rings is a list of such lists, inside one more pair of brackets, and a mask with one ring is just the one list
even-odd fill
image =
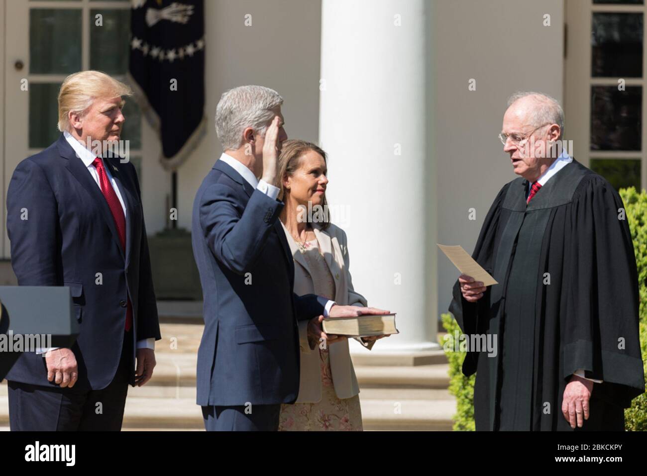
{"label": "off-white wall between the white column and the robed man", "polygon": [[[433,20],[438,240],[471,253],[496,193],[516,178],[497,137],[507,97],[532,90],[562,99],[564,0],[440,0]],[[439,313],[458,274],[438,251]]]}

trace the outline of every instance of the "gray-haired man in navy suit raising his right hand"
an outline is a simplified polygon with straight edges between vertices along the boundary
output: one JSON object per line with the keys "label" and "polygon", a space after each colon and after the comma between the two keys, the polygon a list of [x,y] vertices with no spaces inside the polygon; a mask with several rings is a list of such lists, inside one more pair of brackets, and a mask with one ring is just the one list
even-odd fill
{"label": "gray-haired man in navy suit raising his right hand", "polygon": [[204,294],[197,404],[210,431],[278,429],[281,404],[294,403],[299,390],[298,320],[320,326],[320,316],[388,312],[292,292],[294,263],[274,186],[287,139],[282,103],[261,86],[223,94],[215,124],[225,153],[193,202],[193,255]]}

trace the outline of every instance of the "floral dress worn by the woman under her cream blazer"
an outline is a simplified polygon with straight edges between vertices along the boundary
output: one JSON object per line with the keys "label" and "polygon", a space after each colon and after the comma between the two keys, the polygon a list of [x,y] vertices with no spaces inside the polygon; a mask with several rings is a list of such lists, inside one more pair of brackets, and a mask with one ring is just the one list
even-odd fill
{"label": "floral dress worn by the woman under her cream blazer", "polygon": [[[316,238],[303,244],[303,257],[310,268],[314,293],[334,299],[334,281],[323,259]],[[360,396],[338,398],[334,391],[333,374],[330,369],[328,349],[319,351],[322,379],[322,399],[316,403],[281,405],[279,431],[362,431]]]}

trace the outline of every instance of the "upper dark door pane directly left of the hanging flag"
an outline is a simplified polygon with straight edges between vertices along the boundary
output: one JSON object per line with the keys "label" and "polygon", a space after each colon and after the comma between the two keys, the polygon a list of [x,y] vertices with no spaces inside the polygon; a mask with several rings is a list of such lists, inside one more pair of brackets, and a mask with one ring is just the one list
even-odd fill
{"label": "upper dark door pane directly left of the hanging flag", "polygon": [[[96,15],[103,25],[95,24]],[[126,74],[130,54],[130,10],[91,10],[90,69]]]}

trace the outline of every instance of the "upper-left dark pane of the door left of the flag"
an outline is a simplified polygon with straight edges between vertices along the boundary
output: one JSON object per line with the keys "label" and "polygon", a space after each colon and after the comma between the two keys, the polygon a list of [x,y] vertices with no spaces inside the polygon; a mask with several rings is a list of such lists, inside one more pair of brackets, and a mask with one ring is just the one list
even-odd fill
{"label": "upper-left dark pane of the door left of the flag", "polygon": [[29,10],[29,72],[70,74],[81,70],[81,10]]}

